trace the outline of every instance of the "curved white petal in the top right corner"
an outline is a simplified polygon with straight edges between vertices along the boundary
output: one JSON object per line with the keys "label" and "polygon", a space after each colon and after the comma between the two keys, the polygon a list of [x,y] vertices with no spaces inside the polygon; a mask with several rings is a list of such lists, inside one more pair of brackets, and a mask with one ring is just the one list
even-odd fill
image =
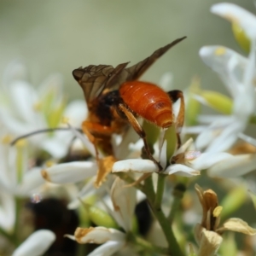
{"label": "curved white petal in the top right corner", "polygon": [[256,38],[256,17],[246,9],[234,3],[217,3],[211,11],[241,26],[249,38]]}

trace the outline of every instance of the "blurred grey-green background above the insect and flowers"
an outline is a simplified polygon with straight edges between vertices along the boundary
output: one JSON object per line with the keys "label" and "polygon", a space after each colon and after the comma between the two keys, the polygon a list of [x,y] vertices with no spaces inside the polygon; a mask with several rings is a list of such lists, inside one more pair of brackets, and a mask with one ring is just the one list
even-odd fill
{"label": "blurred grey-green background above the insect and flowers", "polygon": [[[210,0],[13,1],[0,2],[0,75],[10,61],[21,59],[37,86],[49,74],[64,76],[70,99],[82,98],[72,71],[90,64],[142,61],[176,38],[188,38],[166,53],[144,74],[154,83],[172,72],[183,89],[198,75],[204,88],[224,87],[202,63],[203,45],[223,44],[236,51],[230,23],[210,13]],[[255,12],[252,0],[227,1]]]}

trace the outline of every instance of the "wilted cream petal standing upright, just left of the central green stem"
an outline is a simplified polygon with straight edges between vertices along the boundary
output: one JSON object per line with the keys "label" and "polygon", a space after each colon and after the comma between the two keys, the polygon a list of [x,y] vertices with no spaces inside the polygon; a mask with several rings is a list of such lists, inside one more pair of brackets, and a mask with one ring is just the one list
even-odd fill
{"label": "wilted cream petal standing upright, just left of the central green stem", "polygon": [[126,232],[131,231],[131,220],[136,205],[136,189],[125,188],[125,182],[117,177],[111,188],[111,199],[114,212],[119,216],[117,218],[119,224]]}

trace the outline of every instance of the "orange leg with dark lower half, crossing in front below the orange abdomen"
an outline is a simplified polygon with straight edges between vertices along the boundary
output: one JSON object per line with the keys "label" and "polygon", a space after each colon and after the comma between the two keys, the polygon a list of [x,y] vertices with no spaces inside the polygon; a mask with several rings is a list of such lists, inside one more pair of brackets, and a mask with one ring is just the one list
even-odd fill
{"label": "orange leg with dark lower half, crossing in front below the orange abdomen", "polygon": [[154,161],[154,164],[158,166],[159,171],[161,171],[163,168],[160,166],[160,163],[154,159],[154,156],[151,154],[150,148],[148,146],[148,142],[146,140],[146,133],[143,130],[143,127],[138,123],[137,119],[135,118],[134,114],[131,113],[131,110],[127,108],[124,104],[119,103],[118,108],[125,113],[125,116],[129,120],[129,123],[132,125],[133,129],[137,132],[138,136],[143,139],[145,151],[148,154],[148,158],[152,161]]}

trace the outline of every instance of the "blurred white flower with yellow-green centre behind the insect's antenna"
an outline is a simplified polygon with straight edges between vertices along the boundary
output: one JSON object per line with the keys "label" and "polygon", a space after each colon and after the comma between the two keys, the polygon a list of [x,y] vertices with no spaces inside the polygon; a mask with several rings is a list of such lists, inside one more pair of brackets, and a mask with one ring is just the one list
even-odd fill
{"label": "blurred white flower with yellow-green centre behind the insect's antenna", "polygon": [[[46,128],[61,127],[64,115],[69,122],[80,126],[87,114],[84,101],[71,102],[65,108],[61,91],[62,77],[54,74],[35,90],[26,81],[26,67],[19,61],[11,63],[3,77],[0,88],[3,99],[0,101],[0,119],[15,137]],[[67,154],[73,138],[70,131],[56,131],[29,137],[36,148],[42,148],[54,157]]]}

